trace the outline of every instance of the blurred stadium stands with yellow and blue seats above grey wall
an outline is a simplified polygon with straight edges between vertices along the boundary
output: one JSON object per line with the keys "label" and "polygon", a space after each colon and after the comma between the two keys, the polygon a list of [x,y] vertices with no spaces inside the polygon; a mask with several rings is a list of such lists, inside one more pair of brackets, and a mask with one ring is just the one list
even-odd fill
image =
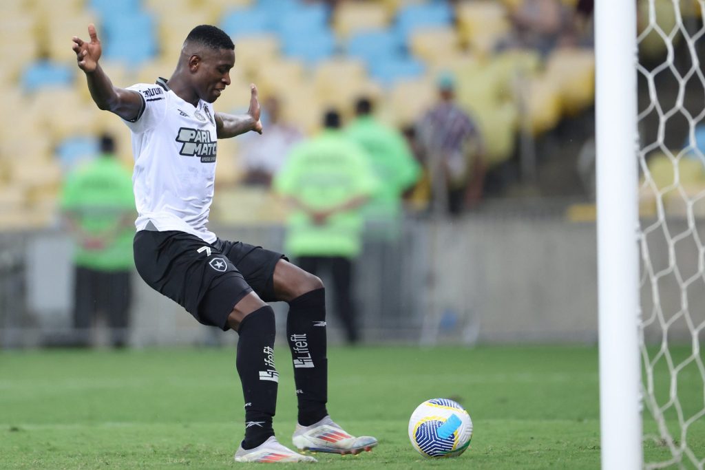
{"label": "blurred stadium stands with yellow and blue seats above grey wall", "polygon": [[[216,109],[243,111],[255,82],[307,135],[330,106],[352,116],[363,94],[384,122],[413,125],[436,99],[436,77],[450,71],[486,145],[484,201],[452,220],[429,217],[423,194],[410,201],[391,257],[400,282],[386,299],[376,289],[385,261],[364,251],[355,287],[364,338],[596,341],[591,19],[577,0],[548,1],[570,40],[540,50],[502,47],[513,14],[530,3],[523,0],[4,0],[0,347],[41,345],[70,326],[71,243],[57,207],[66,173],[96,154],[102,132],[132,164],[128,129],[96,109],[75,66],[71,37],[86,37],[89,23],[118,86],[168,77],[188,31],[219,25],[235,41],[237,62]],[[701,24],[686,3],[685,21]],[[656,36],[642,49],[662,61],[666,46]],[[670,135],[674,145],[686,137]],[[218,160],[212,229],[281,249],[283,207],[266,189],[241,184],[238,139],[219,142]],[[253,210],[230,210],[238,206]],[[135,289],[131,344],[221,340],[141,280]],[[331,315],[333,340],[336,326]]]}

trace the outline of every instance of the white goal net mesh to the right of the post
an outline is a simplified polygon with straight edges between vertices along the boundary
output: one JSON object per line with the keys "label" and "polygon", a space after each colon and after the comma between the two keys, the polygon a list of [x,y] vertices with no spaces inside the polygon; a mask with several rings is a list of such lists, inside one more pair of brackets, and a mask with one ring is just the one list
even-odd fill
{"label": "white goal net mesh to the right of the post", "polygon": [[639,0],[647,469],[705,466],[705,0]]}

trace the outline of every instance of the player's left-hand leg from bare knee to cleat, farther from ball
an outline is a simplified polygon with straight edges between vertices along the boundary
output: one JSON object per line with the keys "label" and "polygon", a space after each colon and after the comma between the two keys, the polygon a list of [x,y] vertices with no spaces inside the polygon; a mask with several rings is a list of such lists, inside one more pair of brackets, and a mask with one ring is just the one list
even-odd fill
{"label": "player's left-hand leg from bare knee to cleat, farther from ball", "polygon": [[236,462],[311,462],[274,438],[279,376],[274,366],[274,310],[255,292],[240,300],[228,315],[228,326],[240,335],[236,365],[245,397],[245,439]]}

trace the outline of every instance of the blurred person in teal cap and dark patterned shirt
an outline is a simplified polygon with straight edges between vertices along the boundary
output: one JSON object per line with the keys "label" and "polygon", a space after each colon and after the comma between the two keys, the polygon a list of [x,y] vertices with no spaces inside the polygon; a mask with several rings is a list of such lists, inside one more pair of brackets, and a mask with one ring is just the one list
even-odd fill
{"label": "blurred person in teal cap and dark patterned shirt", "polygon": [[455,104],[455,79],[441,73],[439,102],[417,124],[436,213],[461,214],[482,199],[485,163],[477,125]]}

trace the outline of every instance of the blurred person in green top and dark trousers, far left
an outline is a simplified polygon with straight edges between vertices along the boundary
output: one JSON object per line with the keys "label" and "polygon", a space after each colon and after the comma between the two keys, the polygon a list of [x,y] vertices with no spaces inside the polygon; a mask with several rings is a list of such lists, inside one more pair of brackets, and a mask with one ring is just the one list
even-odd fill
{"label": "blurred person in green top and dark trousers, far left", "polygon": [[61,209],[75,242],[74,344],[92,345],[92,326],[106,316],[111,345],[123,347],[130,325],[135,197],[130,171],[103,135],[100,155],[73,171],[63,185]]}

